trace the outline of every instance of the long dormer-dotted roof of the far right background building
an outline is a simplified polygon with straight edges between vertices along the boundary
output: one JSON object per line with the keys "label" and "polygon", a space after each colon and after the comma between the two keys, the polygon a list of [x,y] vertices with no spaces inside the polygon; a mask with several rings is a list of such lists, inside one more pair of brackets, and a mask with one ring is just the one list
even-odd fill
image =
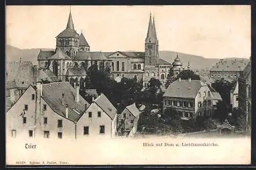
{"label": "long dormer-dotted roof of the far right background building", "polygon": [[242,71],[248,60],[220,60],[210,71]]}

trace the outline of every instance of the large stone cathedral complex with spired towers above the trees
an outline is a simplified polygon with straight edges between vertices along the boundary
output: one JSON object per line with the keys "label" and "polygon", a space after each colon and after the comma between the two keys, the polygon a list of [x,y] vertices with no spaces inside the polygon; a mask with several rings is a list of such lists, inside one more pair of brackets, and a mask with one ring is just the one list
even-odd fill
{"label": "large stone cathedral complex with spired towers above the trees", "polygon": [[[151,78],[165,82],[169,69],[172,69],[171,63],[159,57],[158,47],[155,18],[152,19],[150,14],[144,52],[91,52],[83,33],[79,35],[76,32],[70,11],[66,29],[56,36],[55,51],[40,51],[37,66],[51,70],[61,81],[85,77],[87,69],[93,64],[99,69],[108,66],[116,81],[125,77],[142,80],[147,86]],[[178,55],[173,64],[174,71],[180,72],[182,63]]]}

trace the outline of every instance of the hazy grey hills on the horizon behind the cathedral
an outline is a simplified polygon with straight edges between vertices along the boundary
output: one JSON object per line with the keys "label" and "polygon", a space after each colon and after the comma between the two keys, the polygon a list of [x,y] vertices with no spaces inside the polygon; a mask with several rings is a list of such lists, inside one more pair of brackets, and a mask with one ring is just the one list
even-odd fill
{"label": "hazy grey hills on the horizon behind the cathedral", "polygon": [[[41,50],[54,50],[51,48],[42,48]],[[22,58],[22,61],[31,61],[34,65],[37,65],[37,56],[40,52],[40,48],[24,49],[13,47],[11,45],[6,45],[6,61],[19,61]],[[134,52],[134,51],[126,51]],[[160,51],[159,55],[162,59],[173,63],[178,52],[172,51]],[[215,58],[204,58],[202,56],[189,55],[184,53],[178,53],[178,56],[183,63],[184,67],[187,67],[189,61],[191,69],[211,69],[220,59]],[[242,58],[227,58],[228,60],[242,60]],[[249,60],[249,59],[247,59]]]}

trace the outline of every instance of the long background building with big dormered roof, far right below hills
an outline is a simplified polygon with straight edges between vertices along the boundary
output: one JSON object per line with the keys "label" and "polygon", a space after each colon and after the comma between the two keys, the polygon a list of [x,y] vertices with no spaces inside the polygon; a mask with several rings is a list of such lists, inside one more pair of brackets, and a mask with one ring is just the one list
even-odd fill
{"label": "long background building with big dormered roof, far right below hills", "polygon": [[232,80],[238,80],[242,70],[248,64],[248,60],[224,60],[221,59],[215,66],[210,69],[210,78],[212,80],[220,80],[224,78],[231,82]]}

